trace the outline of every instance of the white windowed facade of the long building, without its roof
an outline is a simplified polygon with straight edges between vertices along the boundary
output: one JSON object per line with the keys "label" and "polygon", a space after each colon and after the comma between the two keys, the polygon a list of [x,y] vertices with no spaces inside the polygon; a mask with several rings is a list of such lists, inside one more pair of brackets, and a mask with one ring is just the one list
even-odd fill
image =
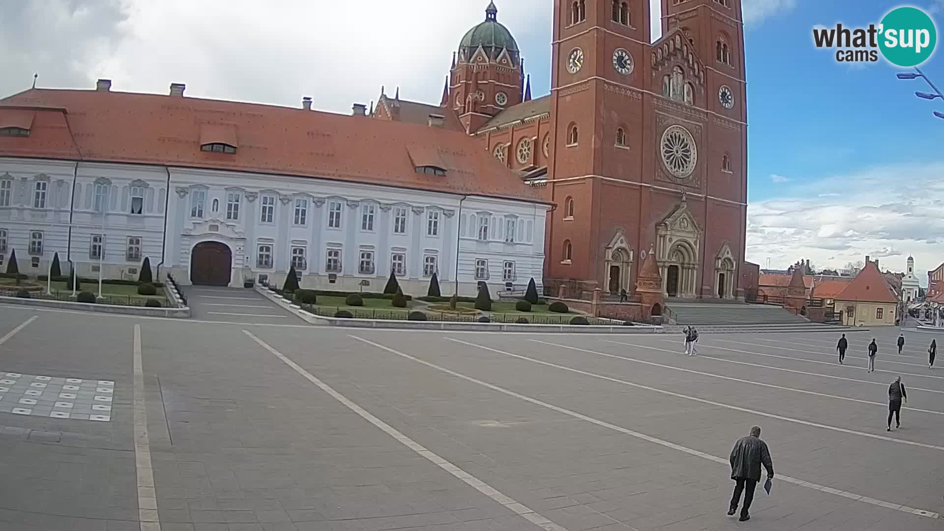
{"label": "white windowed facade of the long building, without its roof", "polygon": [[103,241],[106,278],[137,278],[149,257],[155,275],[160,267],[187,284],[205,273],[194,272],[194,249],[217,242],[231,286],[261,276],[280,284],[294,263],[309,288],[380,291],[396,270],[404,293],[419,296],[435,271],[444,295],[457,275],[461,295],[479,282],[495,294],[532,277],[542,284],[547,210],[337,180],[0,158],[0,270],[15,248],[21,273],[45,274],[58,251],[63,274],[71,260],[94,277]]}

